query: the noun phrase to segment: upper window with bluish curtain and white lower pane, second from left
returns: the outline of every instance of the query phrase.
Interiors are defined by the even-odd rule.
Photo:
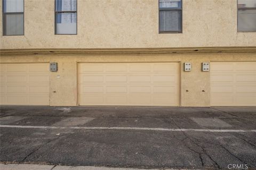
[[[76,8],[76,0],[55,0],[55,34],[77,33]]]

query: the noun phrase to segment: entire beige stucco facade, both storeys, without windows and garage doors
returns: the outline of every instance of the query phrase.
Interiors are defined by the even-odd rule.
[[[25,0],[24,36],[2,36],[1,12],[2,52],[15,50],[12,55],[2,53],[1,63],[57,62],[58,72],[50,72],[50,105],[76,106],[79,63],[179,62],[180,106],[209,107],[210,72],[202,72],[201,63],[255,62],[256,32],[237,32],[236,0],[183,0],[182,3],[182,33],[158,33],[157,0],[78,0],[77,35],[54,35],[54,0]],[[193,52],[198,48],[206,52],[173,52],[187,47]],[[210,47],[218,49],[207,51]],[[242,50],[221,54],[228,47]],[[47,55],[40,53],[45,48],[49,49]],[[60,48],[67,49],[69,54],[50,54]],[[143,48],[145,52],[131,55],[129,50],[133,48]],[[157,48],[172,50],[150,54]],[[19,53],[24,49],[33,52]],[[78,55],[79,49],[126,49],[128,53]],[[191,62],[191,72],[183,71],[184,62]]]

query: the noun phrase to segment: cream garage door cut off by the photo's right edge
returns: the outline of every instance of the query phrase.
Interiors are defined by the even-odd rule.
[[[211,63],[211,106],[256,106],[256,62]]]

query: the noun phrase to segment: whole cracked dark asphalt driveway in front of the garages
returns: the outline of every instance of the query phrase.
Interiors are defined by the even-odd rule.
[[[1,163],[256,168],[254,107],[1,107]],[[246,167],[244,166],[244,167]]]

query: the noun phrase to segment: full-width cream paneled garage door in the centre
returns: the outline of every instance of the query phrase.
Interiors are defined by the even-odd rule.
[[[179,106],[179,63],[80,63],[79,105]]]

